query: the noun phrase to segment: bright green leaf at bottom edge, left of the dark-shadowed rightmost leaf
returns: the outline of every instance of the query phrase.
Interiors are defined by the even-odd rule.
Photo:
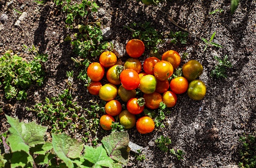
[[[97,148],[84,146],[84,155],[82,156],[84,159],[93,163],[92,167],[112,167],[112,163],[114,161],[106,154],[105,149],[102,146]]]

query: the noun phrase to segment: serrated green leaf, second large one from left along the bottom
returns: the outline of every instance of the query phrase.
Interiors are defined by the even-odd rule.
[[[67,134],[53,134],[52,146],[57,156],[66,163],[68,167],[74,167],[70,158],[79,158],[83,149],[83,143],[71,138]]]

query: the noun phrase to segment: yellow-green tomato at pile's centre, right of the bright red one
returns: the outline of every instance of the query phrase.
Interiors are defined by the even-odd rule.
[[[157,79],[153,75],[146,75],[141,78],[139,88],[143,93],[153,93],[156,90]]]

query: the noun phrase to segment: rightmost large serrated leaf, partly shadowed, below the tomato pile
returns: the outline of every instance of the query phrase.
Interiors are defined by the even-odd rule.
[[[109,136],[105,136],[101,140],[106,152],[109,156],[126,165],[129,158],[129,135],[125,132],[113,132]]]

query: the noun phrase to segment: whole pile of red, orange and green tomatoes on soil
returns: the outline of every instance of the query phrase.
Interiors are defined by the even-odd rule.
[[[116,65],[117,57],[112,52],[103,52],[99,62],[93,62],[87,69],[87,75],[92,82],[87,87],[93,95],[108,102],[105,105],[106,114],[101,116],[100,125],[104,130],[110,130],[113,116],[119,117],[119,123],[125,129],[136,125],[141,134],[152,132],[155,128],[151,117],[142,116],[136,122],[136,114],[140,114],[145,107],[157,109],[160,102],[166,107],[173,107],[177,102],[177,95],[187,91],[188,96],[194,100],[201,100],[206,93],[205,84],[198,78],[202,72],[202,65],[196,60],[190,60],[182,67],[184,77],[168,79],[173,75],[181,62],[180,55],[173,50],[162,55],[162,60],[150,57],[144,60],[143,65],[138,59],[144,53],[144,43],[141,40],[130,40],[126,44],[126,52],[131,57],[123,66]],[[124,67],[124,69],[122,69]],[[141,73],[143,67],[144,73]],[[101,85],[99,82],[104,76],[109,83]],[[191,81],[190,83],[188,81]],[[117,86],[119,86],[117,88]],[[170,88],[170,90],[169,90]],[[143,92],[142,98],[136,98],[136,89]],[[126,104],[127,110],[122,111],[121,103],[115,100],[117,94]]]

